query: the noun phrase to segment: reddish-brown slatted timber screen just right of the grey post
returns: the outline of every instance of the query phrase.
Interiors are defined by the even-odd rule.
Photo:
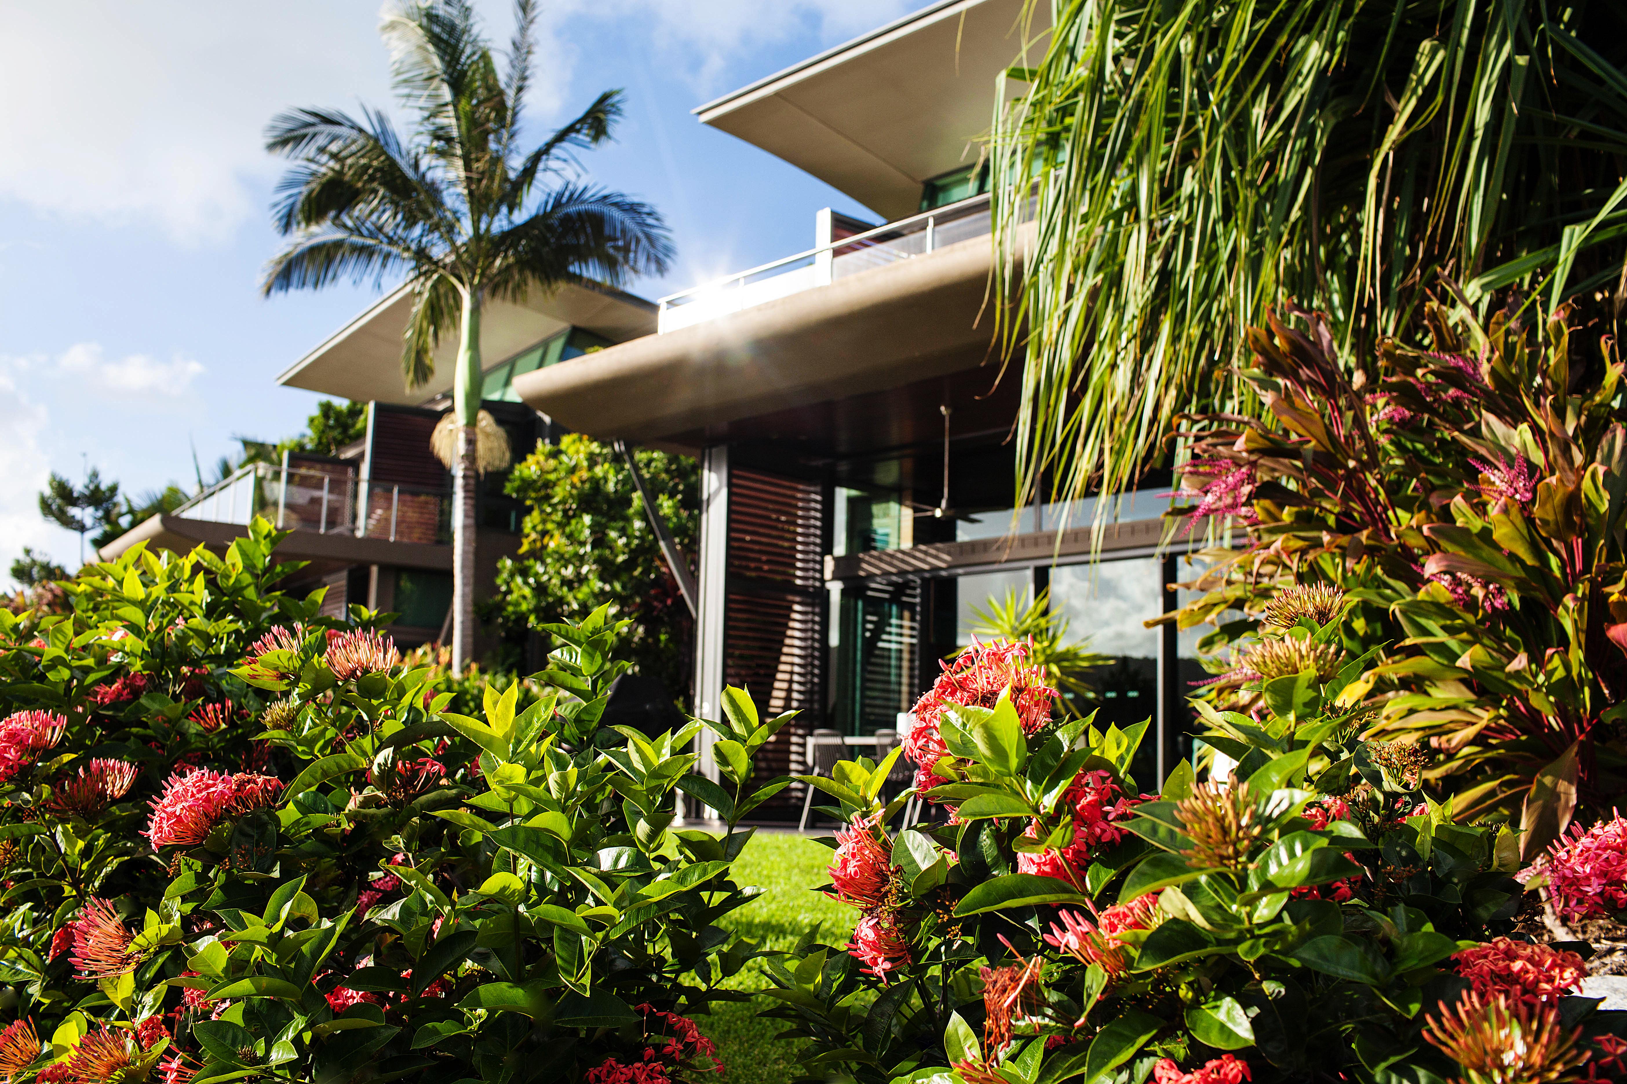
[[[750,691],[765,720],[800,712],[757,754],[765,778],[807,770],[800,738],[822,712],[823,505],[820,483],[731,471],[724,683]],[[791,801],[781,791],[763,811]]]

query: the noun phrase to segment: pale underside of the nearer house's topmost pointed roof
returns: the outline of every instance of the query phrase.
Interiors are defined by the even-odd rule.
[[[916,213],[921,185],[978,161],[994,80],[1019,63],[1023,0],[942,0],[695,111],[875,210]],[[1049,28],[1036,3],[1032,34]],[[1045,37],[1027,50],[1032,67]],[[1020,86],[1020,85],[1019,85]]]

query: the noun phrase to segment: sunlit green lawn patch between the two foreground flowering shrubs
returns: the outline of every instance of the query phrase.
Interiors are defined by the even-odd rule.
[[[765,949],[796,946],[815,923],[823,923],[822,941],[844,944],[857,912],[810,891],[830,884],[828,863],[830,848],[807,837],[757,834],[734,863],[732,876],[737,884],[768,891],[729,915],[724,925]],[[761,985],[758,969],[760,964],[750,964],[726,985],[732,990]],[[711,1016],[695,1021],[718,1043],[718,1058],[729,1068],[724,1077],[729,1084],[783,1084],[794,1074],[789,1056],[794,1045],[774,1040],[779,1022],[757,1019],[766,1001],[719,1003]]]

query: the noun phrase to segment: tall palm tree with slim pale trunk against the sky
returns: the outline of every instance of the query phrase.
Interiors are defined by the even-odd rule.
[[[646,203],[576,179],[574,151],[610,138],[620,91],[607,91],[527,154],[521,104],[532,62],[532,0],[514,5],[503,72],[467,0],[405,3],[384,20],[395,93],[413,115],[403,141],[363,107],[296,109],[272,120],[267,148],[294,159],[278,185],[277,229],[290,237],[265,271],[267,294],[338,280],[413,289],[402,372],[434,375],[433,351],[459,333],[452,668],[473,650],[475,475],[480,470],[480,315],[488,301],[524,299],[568,283],[620,284],[664,271],[672,245]],[[548,180],[552,184],[543,184]],[[444,424],[444,419],[443,419]]]

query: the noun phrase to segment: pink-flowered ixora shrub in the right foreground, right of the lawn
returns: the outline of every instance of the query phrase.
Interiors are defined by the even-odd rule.
[[[1461,822],[1407,749],[1362,739],[1372,655],[1339,658],[1344,608],[1284,598],[1246,679],[1261,712],[1202,705],[1238,762],[1224,780],[1183,762],[1141,793],[1144,725],[1054,720],[1012,644],[918,705],[909,752],[947,824],[892,824],[888,764],[809,778],[848,821],[830,892],[859,912],[846,944],[810,933],[768,962],[809,1076],[1620,1079],[1627,1014],[1573,996],[1591,949],[1510,936],[1531,899],[1516,834]],[[1624,830],[1554,852],[1526,887],[1617,907]]]

